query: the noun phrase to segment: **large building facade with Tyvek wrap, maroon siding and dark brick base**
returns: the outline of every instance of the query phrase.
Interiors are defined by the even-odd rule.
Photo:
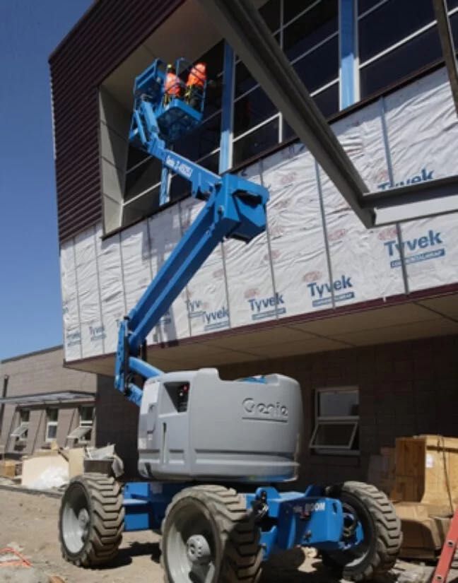
[[[258,5],[372,191],[456,173],[430,0]],[[216,249],[148,336],[149,360],[297,378],[304,479],[364,478],[396,436],[452,434],[446,401],[430,401],[458,380],[457,214],[365,230],[196,0],[99,0],[49,59],[66,365],[112,375],[119,319],[199,212],[177,176],[160,205],[160,166],[127,139],[134,78],[181,56],[206,61],[213,83],[175,150],[268,187],[268,228]],[[134,457],[136,416],[122,411]]]

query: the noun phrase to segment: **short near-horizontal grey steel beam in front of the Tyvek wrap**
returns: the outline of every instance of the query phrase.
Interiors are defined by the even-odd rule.
[[[458,176],[371,192],[364,197],[363,206],[373,209],[375,227],[454,213],[458,211]]]

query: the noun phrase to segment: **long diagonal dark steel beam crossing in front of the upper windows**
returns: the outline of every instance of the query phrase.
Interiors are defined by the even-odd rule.
[[[363,208],[368,187],[252,0],[199,1],[353,211],[370,227],[372,211]]]

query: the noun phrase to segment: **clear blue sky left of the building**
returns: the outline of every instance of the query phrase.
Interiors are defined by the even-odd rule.
[[[0,360],[62,341],[47,59],[92,0],[0,0]]]

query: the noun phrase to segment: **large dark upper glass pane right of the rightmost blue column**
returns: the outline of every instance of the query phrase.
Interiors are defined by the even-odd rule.
[[[389,0],[359,21],[359,54],[364,63],[434,20],[433,2]]]

